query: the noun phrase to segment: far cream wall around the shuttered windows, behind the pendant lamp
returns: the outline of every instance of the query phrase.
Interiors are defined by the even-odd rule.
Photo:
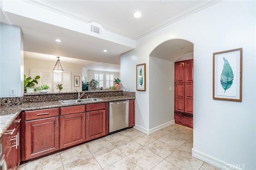
[[[30,69],[52,70],[55,63],[24,61],[24,74],[26,75],[26,77],[29,77]],[[71,72],[71,90],[75,91],[75,89],[76,89],[77,91],[82,91],[82,67],[74,66],[74,65],[66,65],[63,63],[61,63],[61,65],[62,65],[62,68],[64,69],[64,71]],[[75,75],[80,76],[80,86],[79,87],[74,87],[74,76]]]

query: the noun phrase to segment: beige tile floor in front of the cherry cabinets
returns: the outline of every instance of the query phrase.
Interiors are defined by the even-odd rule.
[[[191,156],[193,129],[170,125],[147,135],[134,128],[20,165],[20,170],[218,170]]]

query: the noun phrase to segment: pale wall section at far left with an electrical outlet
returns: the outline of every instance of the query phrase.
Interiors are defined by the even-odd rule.
[[[23,93],[23,33],[19,26],[1,23],[0,97]],[[16,90],[10,96],[10,89]]]

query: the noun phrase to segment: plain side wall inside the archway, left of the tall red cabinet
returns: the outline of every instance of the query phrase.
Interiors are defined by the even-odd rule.
[[[174,121],[174,62],[150,56],[148,83],[149,128],[172,123],[171,121]]]

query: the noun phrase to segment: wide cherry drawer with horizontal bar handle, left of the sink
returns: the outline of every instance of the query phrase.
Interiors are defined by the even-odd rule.
[[[41,119],[46,117],[54,117],[59,115],[59,108],[42,109],[36,111],[25,111],[25,121],[33,119]]]

